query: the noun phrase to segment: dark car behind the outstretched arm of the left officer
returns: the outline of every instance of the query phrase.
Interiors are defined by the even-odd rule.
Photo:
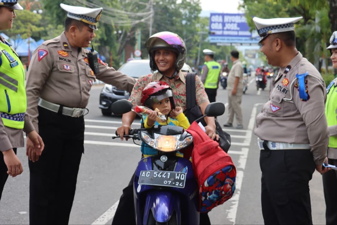
[[[124,63],[119,69],[123,74],[133,78],[138,78],[143,75],[151,74],[150,60],[130,60]],[[104,116],[112,114],[111,104],[120,99],[128,99],[130,93],[124,90],[117,89],[111,84],[105,84],[99,95],[99,108]]]

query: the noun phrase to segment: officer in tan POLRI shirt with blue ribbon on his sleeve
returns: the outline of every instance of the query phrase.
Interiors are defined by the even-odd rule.
[[[265,224],[312,224],[309,180],[327,159],[326,88],[296,49],[297,18],[253,18],[261,52],[279,66],[269,101],[256,117]]]

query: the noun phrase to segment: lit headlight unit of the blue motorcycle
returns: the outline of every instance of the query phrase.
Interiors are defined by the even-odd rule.
[[[186,137],[184,140],[179,140],[181,135],[161,135],[154,133],[154,139],[148,134],[141,132],[142,140],[151,147],[165,152],[177,151],[192,143],[192,136]]]

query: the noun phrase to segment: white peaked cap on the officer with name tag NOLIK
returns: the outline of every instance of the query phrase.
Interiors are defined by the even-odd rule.
[[[61,3],[61,8],[68,12],[67,17],[84,22],[88,27],[97,30],[97,22],[101,18],[103,8],[86,8]]]

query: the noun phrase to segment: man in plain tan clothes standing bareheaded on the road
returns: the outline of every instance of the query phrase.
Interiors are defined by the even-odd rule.
[[[227,77],[227,95],[228,95],[228,119],[223,126],[233,126],[234,115],[237,120],[237,129],[243,128],[241,101],[243,94],[243,67],[239,59],[239,52],[231,52],[233,66]]]

